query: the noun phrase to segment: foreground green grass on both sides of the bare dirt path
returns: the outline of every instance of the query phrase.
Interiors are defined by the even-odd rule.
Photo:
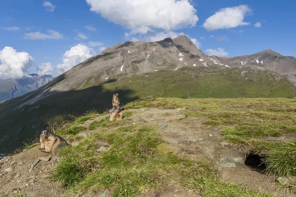
[[[295,100],[159,98],[125,105],[126,109],[143,107],[182,108],[179,111],[187,114],[187,118],[199,117],[204,120],[204,125],[222,127],[223,138],[232,145],[244,148],[246,153],[256,152],[264,156],[265,173],[296,176]],[[81,140],[77,136],[79,132],[97,131],[76,146],[61,150],[60,156],[64,159],[50,175],[51,180],[62,182],[70,195],[109,188],[114,197],[132,197],[175,184],[197,190],[203,197],[272,196],[261,190],[224,182],[201,155],[174,154],[173,149],[168,151],[169,154],[164,153],[167,151],[161,146],[163,140],[157,128],[132,124],[128,118],[132,115],[131,111],[125,111],[122,121],[109,123],[108,117],[102,117],[101,121],[90,122],[85,127],[85,121],[101,116],[88,114],[68,123],[66,128],[53,127],[69,140]],[[141,116],[141,113],[135,116]],[[267,140],[287,135],[290,136],[288,141]],[[98,153],[102,143],[109,144],[109,148]],[[281,186],[295,193],[295,185],[291,181]]]

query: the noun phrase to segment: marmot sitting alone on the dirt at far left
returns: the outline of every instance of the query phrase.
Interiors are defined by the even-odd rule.
[[[68,145],[65,139],[48,130],[41,131],[40,143],[40,149],[45,149],[41,152],[50,153],[52,156],[56,156],[60,148]]]

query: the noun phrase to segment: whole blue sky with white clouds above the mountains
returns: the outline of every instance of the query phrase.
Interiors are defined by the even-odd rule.
[[[295,7],[292,0],[1,0],[0,78],[57,76],[113,44],[182,33],[209,55],[271,48],[296,57]]]

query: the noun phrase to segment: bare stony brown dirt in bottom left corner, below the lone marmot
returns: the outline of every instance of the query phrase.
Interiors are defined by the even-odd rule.
[[[41,160],[34,168],[31,164],[38,157],[46,157],[39,146],[23,153],[0,160],[0,195],[25,194],[26,197],[62,197],[65,190],[58,183],[49,182],[45,176],[57,164]]]

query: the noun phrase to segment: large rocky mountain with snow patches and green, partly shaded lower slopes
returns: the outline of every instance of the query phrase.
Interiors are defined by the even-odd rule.
[[[148,96],[296,98],[296,87],[285,76],[293,77],[295,66],[296,58],[271,50],[239,57],[209,57],[185,35],[158,42],[119,43],[48,84],[43,81],[44,86],[31,93],[0,102],[0,153],[37,137],[48,121],[93,109],[103,112],[111,107],[114,93],[119,94],[122,105]],[[37,87],[33,81],[29,84]],[[9,87],[9,96],[18,94],[15,86]]]

